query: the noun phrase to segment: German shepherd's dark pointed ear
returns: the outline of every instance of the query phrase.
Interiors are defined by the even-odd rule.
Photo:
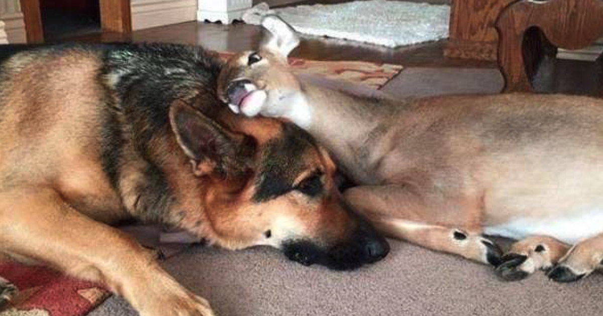
[[[191,158],[197,176],[226,176],[230,170],[224,157],[237,154],[236,135],[204,116],[183,101],[175,101],[169,108],[169,122],[178,144]]]

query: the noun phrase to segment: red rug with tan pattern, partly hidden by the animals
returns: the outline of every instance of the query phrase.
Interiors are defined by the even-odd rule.
[[[227,58],[232,53],[219,53]],[[362,61],[311,61],[289,60],[296,73],[324,76],[329,79],[353,82],[371,88],[381,88],[402,70],[402,66],[365,63]],[[145,246],[148,243],[143,232],[131,232]],[[148,237],[148,234],[147,234]],[[173,240],[172,240],[173,242]],[[189,240],[177,244],[159,245],[172,256],[186,247]],[[165,247],[164,247],[165,246]],[[46,267],[32,267],[0,261],[0,276],[14,283],[19,294],[13,302],[0,311],[0,316],[83,316],[110,296],[109,291],[90,282],[83,282]]]

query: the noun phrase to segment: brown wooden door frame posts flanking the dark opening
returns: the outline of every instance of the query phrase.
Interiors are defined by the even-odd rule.
[[[40,0],[20,0],[28,43],[44,41]],[[132,31],[130,0],[99,0],[101,29],[128,33]]]

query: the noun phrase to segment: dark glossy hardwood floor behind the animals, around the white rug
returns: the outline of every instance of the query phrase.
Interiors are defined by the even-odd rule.
[[[333,0],[341,2],[341,0]],[[186,22],[158,28],[134,31],[131,34],[101,33],[68,39],[77,42],[162,42],[200,45],[214,51],[244,51],[255,49],[261,37],[261,28],[242,23]],[[361,60],[401,64],[405,67],[497,67],[490,61],[446,58],[446,41],[423,43],[391,49],[374,45],[324,38],[308,38],[292,52],[292,57],[310,60]],[[599,70],[599,72],[597,72]],[[603,65],[554,60],[538,70],[532,83],[538,92],[571,94],[601,93]]]

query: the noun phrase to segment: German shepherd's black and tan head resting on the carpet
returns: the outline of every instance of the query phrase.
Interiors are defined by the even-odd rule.
[[[387,255],[387,241],[346,205],[333,161],[309,134],[225,113],[230,119],[219,124],[182,102],[170,110],[177,142],[204,184],[204,237],[228,249],[273,246],[301,264],[339,270]]]

